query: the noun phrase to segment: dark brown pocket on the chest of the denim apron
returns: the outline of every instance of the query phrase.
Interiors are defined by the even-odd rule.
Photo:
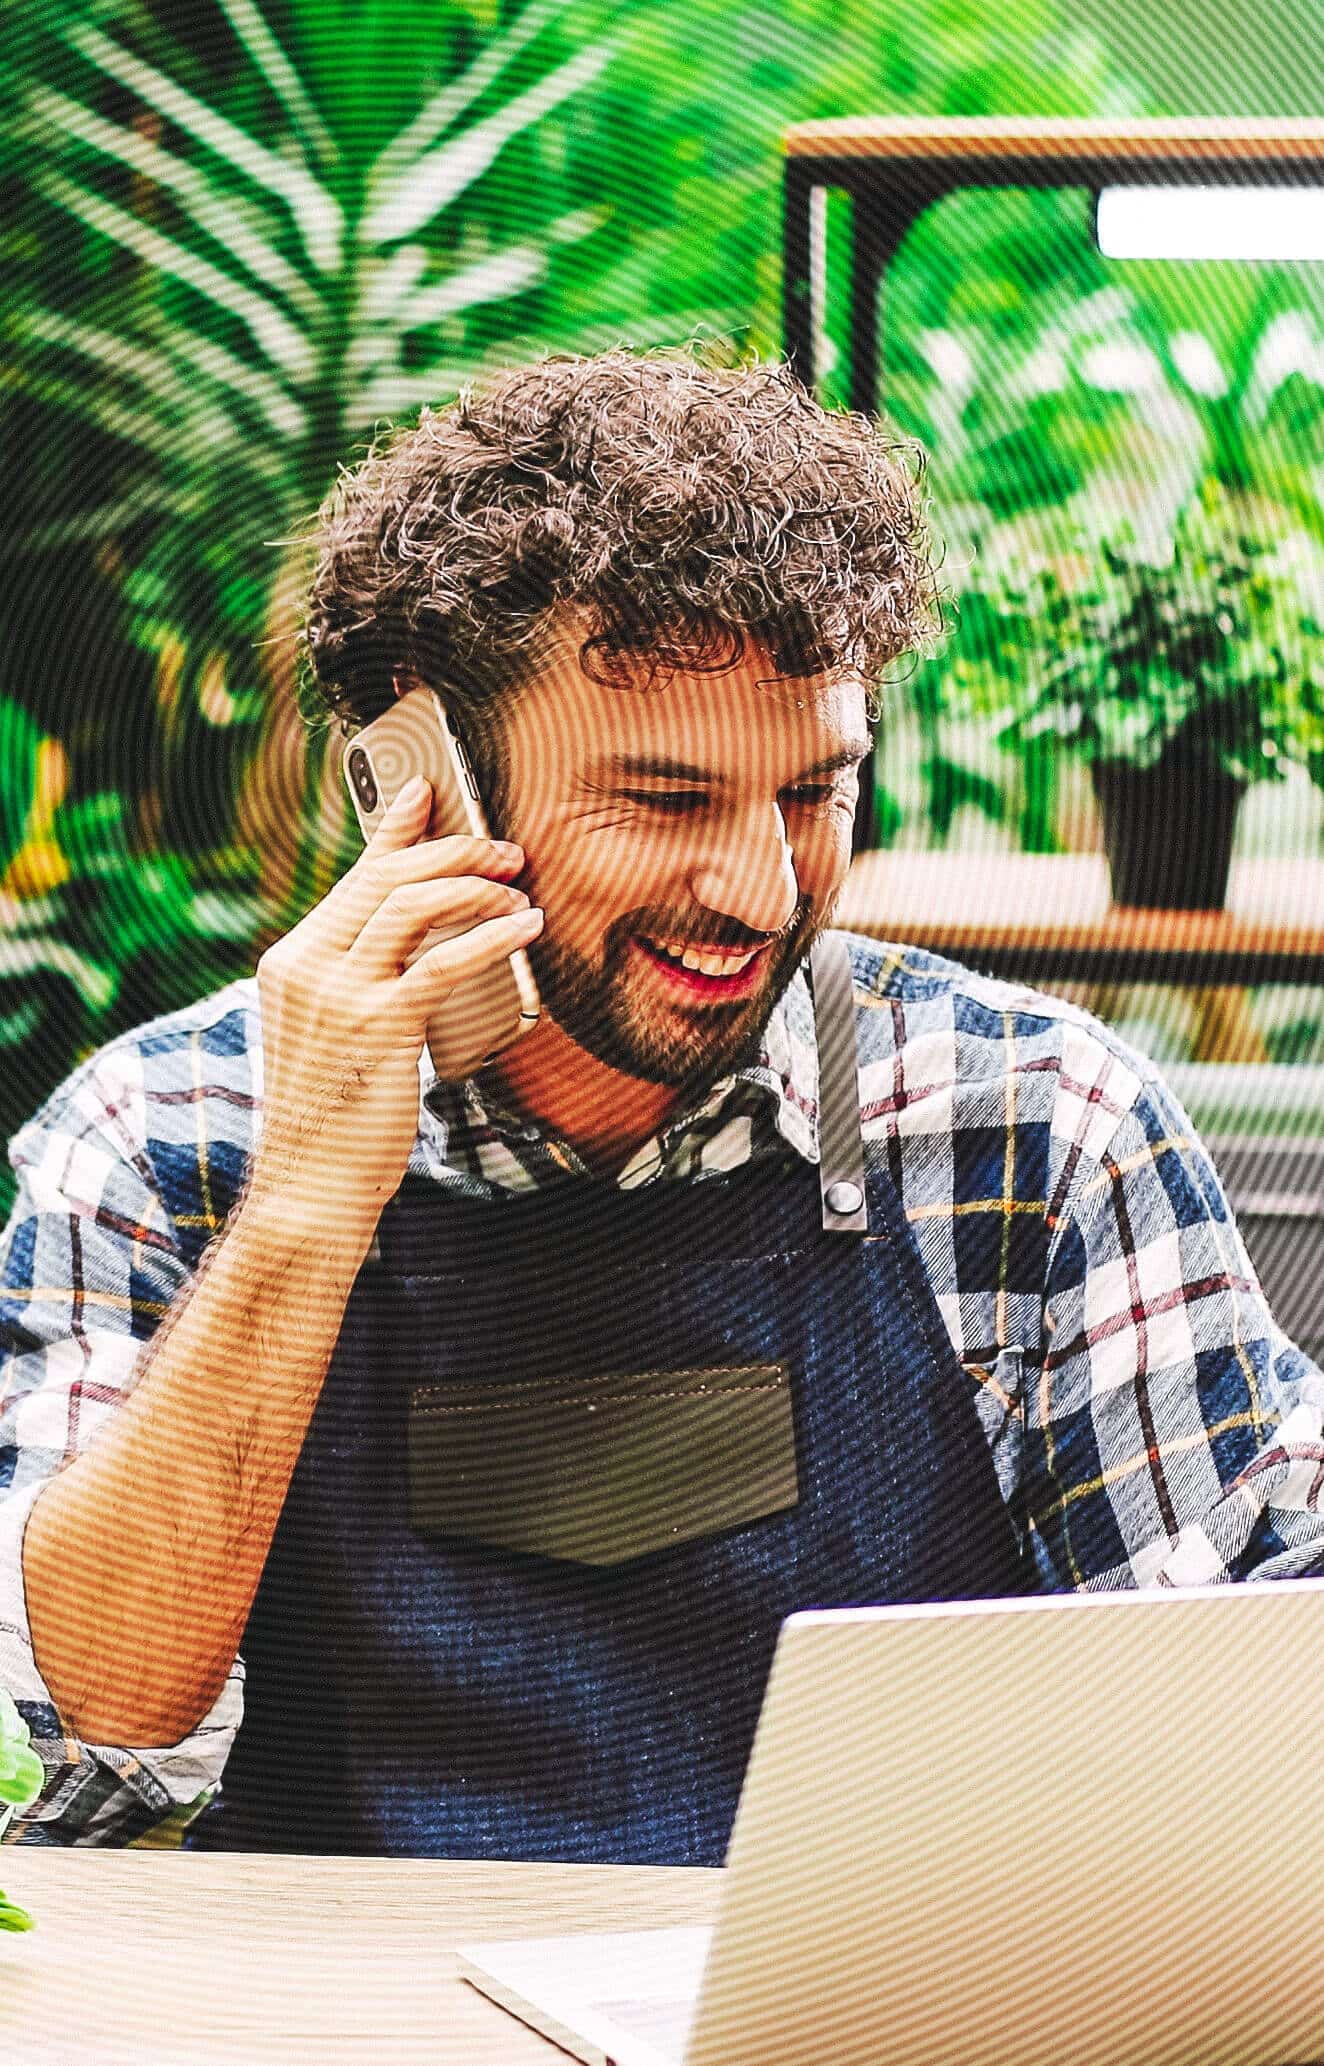
[[[647,1370],[409,1395],[409,1523],[622,1564],[795,1506],[783,1364]]]

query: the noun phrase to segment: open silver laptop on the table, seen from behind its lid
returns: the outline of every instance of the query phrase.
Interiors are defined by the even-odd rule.
[[[1324,2060],[1324,1580],[793,1614],[706,1930],[469,1944],[585,2066]]]

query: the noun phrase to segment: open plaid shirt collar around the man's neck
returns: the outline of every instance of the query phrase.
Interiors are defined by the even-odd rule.
[[[758,1054],[744,1068],[721,1076],[702,1103],[675,1114],[661,1136],[644,1142],[638,1155],[630,1157],[622,1178],[634,1171],[649,1149],[657,1153],[661,1142],[665,1155],[667,1145],[680,1140],[682,1134],[711,1124],[727,1105],[739,1107],[742,1103],[746,1109],[766,1112],[781,1138],[803,1161],[818,1161],[818,1047],[803,967],[795,971],[773,1008]],[[432,1056],[423,1047],[419,1054],[419,1140],[432,1165],[446,1163],[456,1130],[469,1136],[496,1134],[512,1145],[554,1142],[545,1128],[504,1107],[492,1091],[479,1091],[473,1076],[465,1083],[440,1083]]]

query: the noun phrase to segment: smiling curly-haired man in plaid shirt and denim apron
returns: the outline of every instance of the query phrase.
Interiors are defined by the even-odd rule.
[[[442,688],[510,845],[401,795],[12,1142],[29,1841],[713,1864],[791,1607],[1324,1562],[1324,1382],[1155,1070],[828,928],[929,630],[911,475],[777,368],[551,359],[341,483],[320,694]],[[516,946],[541,1025],[436,1083]]]

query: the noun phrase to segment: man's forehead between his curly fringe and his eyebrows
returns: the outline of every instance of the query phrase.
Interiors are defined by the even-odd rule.
[[[580,766],[616,756],[684,758],[713,766],[762,760],[814,764],[870,744],[859,676],[783,676],[766,651],[750,645],[733,663],[688,671],[618,663],[589,665],[578,643],[558,640],[539,680],[521,702],[533,705],[545,746]]]

